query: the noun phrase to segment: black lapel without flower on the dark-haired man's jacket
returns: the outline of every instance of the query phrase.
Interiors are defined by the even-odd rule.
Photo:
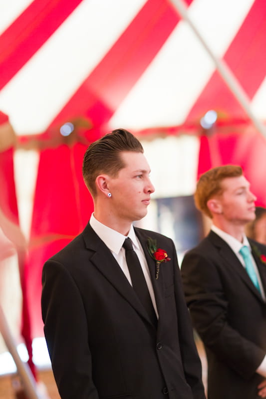
[[[99,238],[88,223],[83,231],[83,237],[87,249],[92,251],[90,257],[91,263],[104,275],[104,277],[113,285],[113,287],[122,295],[122,297],[150,324],[150,321],[144,307],[140,303],[136,293],[127,280],[121,267],[113,257],[109,248]],[[152,324],[153,325],[153,324]]]

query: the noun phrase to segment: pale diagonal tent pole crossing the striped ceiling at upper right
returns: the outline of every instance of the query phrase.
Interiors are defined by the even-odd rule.
[[[184,0],[170,0],[170,2],[175,6],[177,12],[182,16],[182,18],[187,21],[191,29],[194,31],[212,60],[214,61],[220,75],[226,82],[227,86],[231,90],[231,92],[234,94],[238,102],[241,104],[241,106],[244,108],[250,119],[252,120],[254,126],[256,129],[263,134],[263,136],[266,137],[266,127],[262,123],[260,119],[254,115],[251,105],[250,105],[250,99],[247,96],[246,92],[244,91],[243,87],[227,65],[227,63],[218,57],[215,56],[209,45],[206,43],[204,40],[203,36],[199,32],[198,28],[195,26],[195,24],[192,22],[190,19],[188,12],[187,12],[187,5],[185,4]]]

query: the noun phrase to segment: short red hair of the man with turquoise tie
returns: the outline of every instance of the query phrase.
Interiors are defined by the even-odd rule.
[[[216,195],[223,193],[222,181],[226,178],[234,178],[243,175],[243,170],[237,165],[218,166],[217,168],[210,169],[200,176],[197,183],[194,200],[196,207],[205,213],[207,216],[212,217],[212,214],[207,206],[208,200]]]

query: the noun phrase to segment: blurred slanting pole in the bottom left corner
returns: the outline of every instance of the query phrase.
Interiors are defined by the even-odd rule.
[[[38,399],[39,396],[35,391],[34,378],[32,376],[32,373],[28,365],[21,361],[17,353],[16,346],[13,337],[10,333],[7,322],[5,320],[1,305],[0,305],[0,333],[2,334],[3,340],[5,342],[8,351],[10,352],[12,358],[14,359],[18,374],[20,375],[28,399]]]

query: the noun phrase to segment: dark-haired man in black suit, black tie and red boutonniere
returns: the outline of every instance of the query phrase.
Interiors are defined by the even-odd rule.
[[[42,274],[44,333],[62,399],[205,398],[174,243],[132,225],[154,192],[149,173],[140,142],[124,129],[85,153],[94,213]]]

